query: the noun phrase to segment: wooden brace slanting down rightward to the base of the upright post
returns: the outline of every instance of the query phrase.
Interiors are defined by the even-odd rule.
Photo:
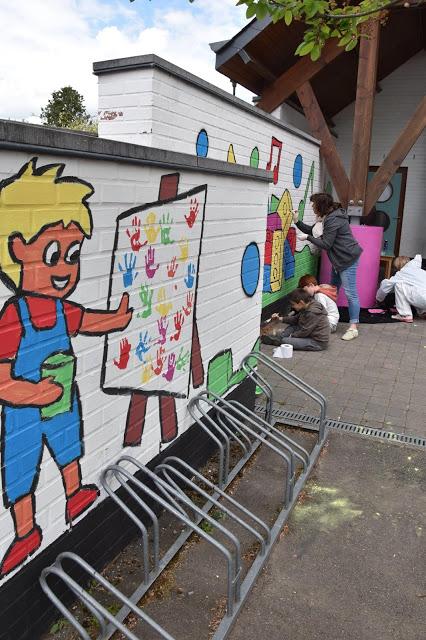
[[[340,202],[343,206],[346,206],[349,193],[348,176],[310,82],[305,82],[303,86],[297,89],[297,96],[309,122],[312,135],[321,140],[321,153],[328,173]]]

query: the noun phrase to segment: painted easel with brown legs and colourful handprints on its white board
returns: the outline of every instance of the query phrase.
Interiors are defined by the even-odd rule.
[[[204,382],[196,305],[207,185],[178,195],[176,178],[163,176],[157,202],[117,219],[108,304],[127,290],[135,313],[123,336],[106,338],[101,383],[131,396],[124,446],[141,444],[149,396],[159,398],[162,442],[173,440],[175,398]]]

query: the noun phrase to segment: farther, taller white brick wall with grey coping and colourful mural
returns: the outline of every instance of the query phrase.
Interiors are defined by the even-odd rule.
[[[309,196],[322,184],[316,140],[156,56],[96,63],[95,73],[103,137],[274,171],[265,211],[264,307],[316,272],[314,248],[297,240],[291,226],[293,209],[314,222]],[[105,118],[107,109],[120,115]]]

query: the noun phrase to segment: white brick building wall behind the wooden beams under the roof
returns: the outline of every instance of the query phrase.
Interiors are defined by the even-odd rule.
[[[399,133],[414,114],[425,93],[426,52],[422,51],[380,81],[376,93],[371,146],[371,166],[380,166]],[[346,170],[350,171],[354,104],[334,117],[338,138],[336,145]],[[426,254],[424,233],[426,184],[426,132],[417,140],[403,161],[407,167],[404,217],[400,254]]]

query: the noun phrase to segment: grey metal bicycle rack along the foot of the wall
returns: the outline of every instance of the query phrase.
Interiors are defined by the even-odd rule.
[[[271,424],[273,392],[271,385],[265,380],[264,375],[259,372],[259,364],[296,386],[320,405],[319,437],[311,452],[308,452],[303,446]],[[123,625],[123,621],[130,612],[135,613],[141,620],[149,624],[159,633],[160,637],[173,640],[172,636],[139,609],[137,603],[194,532],[221,553],[226,561],[226,614],[219,624],[213,640],[224,640],[229,633],[238,611],[264,566],[318,458],[326,436],[327,403],[321,393],[262,353],[250,353],[243,359],[241,366],[266,395],[265,417],[251,411],[238,401],[227,400],[209,390],[201,392],[192,398],[188,404],[188,411],[191,417],[207,433],[218,449],[219,465],[216,483],[207,479],[188,463],[175,456],[165,458],[152,471],[136,459],[124,455],[117,460],[116,464],[104,469],[101,474],[101,484],[106,493],[132,520],[140,532],[143,580],[136,591],[127,598],[115,587],[112,587],[105,578],[100,576],[84,560],[71,553],[61,554],[51,567],[43,571],[40,578],[43,590],[63,615],[74,625],[83,640],[89,640],[87,632],[47,585],[46,578],[49,574],[55,574],[62,578],[71,591],[97,618],[101,628],[101,635],[98,636],[97,640],[109,640],[117,630],[124,633],[126,638],[137,640],[136,636]],[[233,451],[237,448],[240,450],[241,455],[231,468],[232,445],[234,445]],[[225,489],[261,445],[278,455],[285,467],[282,508],[271,526],[267,525],[233,496],[225,492]],[[123,465],[130,465],[134,473]],[[297,475],[298,472],[300,472],[299,475]],[[127,494],[129,499],[126,502],[112,489],[112,480],[115,480]],[[148,482],[149,486],[146,482]],[[191,492],[191,495],[195,493],[198,499],[205,500],[204,505],[200,506],[198,500],[194,502],[186,491]],[[184,525],[183,531],[162,557],[160,557],[159,516],[156,515],[156,512],[147,502],[151,505],[155,504],[158,511],[165,510]],[[251,538],[254,538],[259,545],[259,551],[244,578],[242,577],[243,565],[240,540],[225,524],[218,522],[209,515],[209,511],[213,507],[225,513],[229,522],[250,534]],[[152,525],[152,542],[150,542],[146,523],[138,515],[139,510],[143,513],[145,520],[148,520]],[[205,530],[206,528],[201,526],[203,521],[208,523],[213,530],[216,530],[220,540],[213,537],[211,533]],[[115,616],[100,605],[64,571],[62,562],[65,558],[74,560],[87,573],[99,580],[123,604]]]

